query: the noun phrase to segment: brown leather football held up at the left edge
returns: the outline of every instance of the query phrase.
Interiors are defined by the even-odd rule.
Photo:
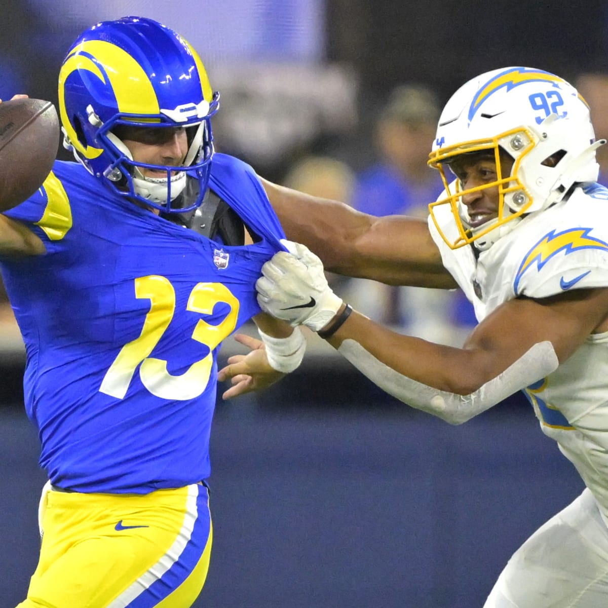
[[[0,212],[40,188],[59,143],[55,106],[41,99],[0,103]]]

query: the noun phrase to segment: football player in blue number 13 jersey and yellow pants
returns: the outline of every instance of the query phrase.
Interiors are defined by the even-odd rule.
[[[269,379],[302,359],[300,331],[258,306],[255,280],[284,234],[252,168],[214,154],[217,109],[176,32],[98,23],[59,78],[77,162],[55,162],[0,215],[26,410],[49,475],[21,608],[190,606],[212,543],[219,345],[255,317]]]

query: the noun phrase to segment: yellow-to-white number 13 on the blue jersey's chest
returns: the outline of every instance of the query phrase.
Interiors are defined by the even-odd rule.
[[[186,309],[195,313],[212,314],[218,302],[230,306],[230,311],[218,325],[199,319],[192,339],[209,347],[207,356],[181,375],[167,371],[167,361],[150,357],[150,353],[167,330],[175,311],[175,290],[165,277],[150,275],[135,280],[135,297],[150,300],[150,311],[143,322],[139,337],[125,344],[103,378],[100,392],[123,399],[139,367],[142,384],[162,399],[193,399],[205,390],[213,365],[213,349],[237,326],[239,303],[222,283],[198,283],[188,297]]]

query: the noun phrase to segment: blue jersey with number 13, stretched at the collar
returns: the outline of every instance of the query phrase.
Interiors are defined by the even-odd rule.
[[[209,476],[216,353],[260,312],[255,281],[284,237],[249,165],[217,154],[210,186],[260,242],[215,243],[73,162],[56,162],[7,212],[47,248],[1,269],[26,344],[26,410],[54,485],[147,493]]]

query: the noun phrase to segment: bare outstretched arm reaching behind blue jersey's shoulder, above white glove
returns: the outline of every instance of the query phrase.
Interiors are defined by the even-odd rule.
[[[348,205],[261,179],[287,238],[305,244],[332,272],[389,285],[452,289],[426,220],[376,218]]]

